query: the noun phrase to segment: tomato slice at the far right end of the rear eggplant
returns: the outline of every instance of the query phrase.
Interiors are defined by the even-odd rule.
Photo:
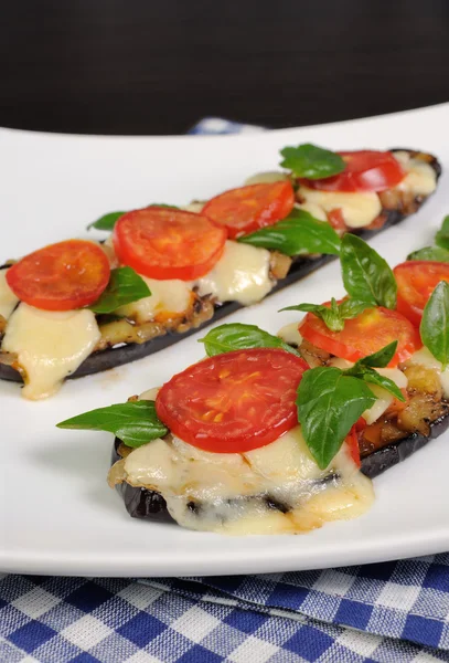
[[[343,172],[320,180],[301,179],[301,183],[321,191],[385,191],[396,187],[405,177],[392,152],[362,149],[339,155],[346,162]]]

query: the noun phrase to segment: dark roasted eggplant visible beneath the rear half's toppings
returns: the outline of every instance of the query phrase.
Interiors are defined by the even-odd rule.
[[[402,151],[408,152],[411,158],[419,159],[426,164],[428,164],[435,171],[437,181],[441,175],[441,166],[439,161],[432,156],[424,152],[419,152],[410,149],[400,149],[395,148],[392,151]],[[394,194],[392,193],[394,192]],[[404,196],[396,192],[396,190],[385,191],[379,194],[381,202],[383,203],[383,210],[381,217],[385,219],[381,228],[375,228],[375,223],[373,228],[365,228],[361,230],[351,230],[359,236],[364,240],[370,240],[381,231],[396,225],[403,219],[407,218],[409,214],[415,213],[426,201],[426,196]],[[389,196],[388,196],[389,194]],[[276,257],[276,256],[275,256]],[[282,278],[278,278],[275,287],[268,293],[269,295],[276,293],[297,281],[300,281],[311,272],[314,272],[322,265],[335,260],[334,255],[317,255],[317,256],[298,256],[293,259],[291,262],[291,266],[287,273],[287,275]],[[275,269],[271,267],[272,276],[276,277],[285,273],[285,266],[279,266],[279,260],[275,260]],[[4,265],[9,266],[9,265]],[[280,270],[280,271],[279,271]],[[268,295],[267,295],[268,296]],[[137,359],[141,359],[147,357],[148,355],[152,355],[159,350],[162,350],[184,337],[191,336],[195,334],[199,329],[202,329],[211,324],[215,324],[217,320],[221,320],[225,316],[234,313],[243,308],[243,306],[236,302],[227,302],[225,304],[215,304],[214,311],[211,312],[211,316],[207,319],[201,319],[201,316],[196,320],[192,320],[190,324],[184,325],[183,327],[175,329],[165,329],[163,327],[160,328],[159,334],[156,335],[148,341],[145,343],[128,343],[120,344],[114,347],[107,347],[106,349],[101,349],[93,352],[81,366],[79,368],[68,376],[68,379],[73,378],[82,378],[84,376],[88,376],[92,373],[100,372],[107,370],[109,368],[115,368],[117,366],[121,366],[124,364],[128,364],[130,361],[136,361]],[[182,329],[182,330],[181,330]],[[4,365],[0,359],[0,379],[3,380],[12,380],[15,382],[21,382],[22,378],[20,373],[14,370],[12,366]]]

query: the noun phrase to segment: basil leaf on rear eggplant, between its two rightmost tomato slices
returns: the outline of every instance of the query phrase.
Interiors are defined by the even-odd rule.
[[[286,255],[330,253],[338,255],[340,238],[327,221],[318,221],[304,210],[293,209],[274,225],[238,238],[238,242],[276,249]]]

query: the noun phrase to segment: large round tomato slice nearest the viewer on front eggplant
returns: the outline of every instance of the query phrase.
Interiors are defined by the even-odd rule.
[[[265,446],[298,423],[303,359],[277,348],[210,357],[174,376],[156,411],[174,435],[215,453]]]

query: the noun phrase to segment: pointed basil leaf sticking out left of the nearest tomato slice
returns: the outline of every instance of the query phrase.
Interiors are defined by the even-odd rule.
[[[169,432],[156,413],[154,401],[146,400],[98,408],[56,425],[61,429],[107,431],[114,433],[127,446],[141,446],[156,438],[163,438]]]

